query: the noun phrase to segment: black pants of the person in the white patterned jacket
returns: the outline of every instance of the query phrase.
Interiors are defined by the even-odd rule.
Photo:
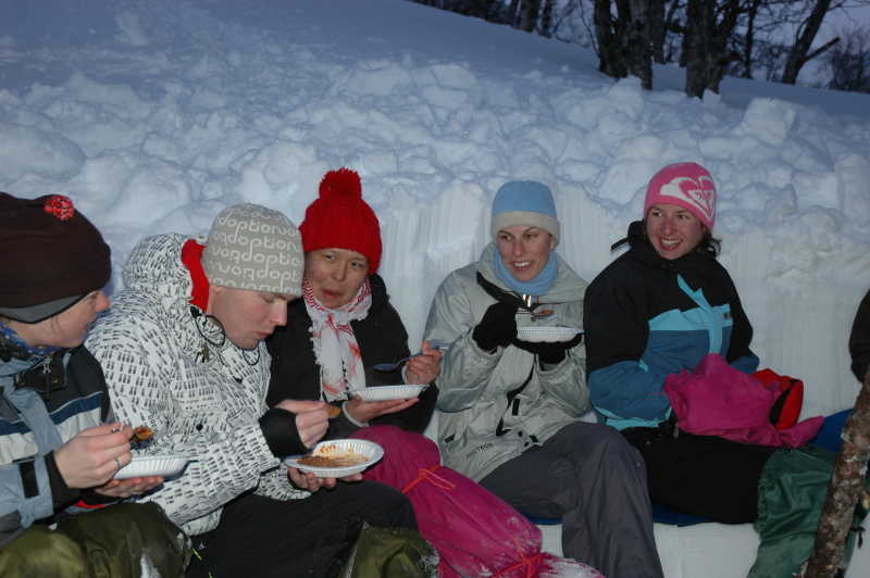
[[[376,481],[286,502],[244,494],[224,507],[217,528],[194,537],[199,558],[186,577],[336,576],[363,522],[417,529],[411,502]]]

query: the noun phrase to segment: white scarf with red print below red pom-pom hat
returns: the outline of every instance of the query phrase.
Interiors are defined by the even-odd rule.
[[[314,297],[308,279],[302,280],[302,299],[311,317],[311,340],[320,365],[321,391],[326,401],[344,400],[345,390],[365,387],[360,347],[350,322],[364,319],[372,305],[369,279],[357,296],[340,309],[326,309]]]

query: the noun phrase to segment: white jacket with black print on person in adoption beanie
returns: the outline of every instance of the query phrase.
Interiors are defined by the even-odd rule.
[[[197,322],[207,332],[210,322],[189,303],[192,281],[181,257],[191,238],[204,242],[169,234],[134,249],[123,268],[127,289],[112,297],[87,344],[117,419],[154,430],[145,452],[191,456],[179,477],[144,500],[195,536],[214,529],[223,505],[248,490],[278,500],[310,493],[290,486],[258,423],[266,411],[265,345],[243,352],[225,339],[203,355]]]

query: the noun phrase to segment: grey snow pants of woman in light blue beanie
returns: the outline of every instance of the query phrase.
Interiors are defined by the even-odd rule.
[[[561,517],[567,557],[608,578],[663,576],[646,467],[614,428],[570,424],[480,483],[527,516]]]

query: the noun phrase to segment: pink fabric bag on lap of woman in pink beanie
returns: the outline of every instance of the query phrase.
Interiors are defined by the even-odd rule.
[[[735,369],[718,353],[705,355],[692,373],[669,375],[664,392],[680,429],[741,443],[799,448],[816,437],[824,420],[810,417],[776,429],[770,411],[782,391]]]

